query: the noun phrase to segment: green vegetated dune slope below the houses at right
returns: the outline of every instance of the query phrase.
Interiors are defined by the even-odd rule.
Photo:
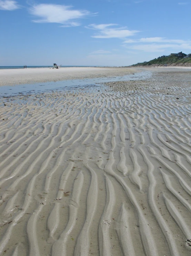
[[[185,66],[188,64],[188,66],[191,65],[191,58],[178,58],[176,56],[162,56],[158,59],[150,60],[148,62],[143,63],[137,63],[134,65],[131,65],[131,67],[137,67],[137,66],[163,66],[164,64],[167,64],[168,66]]]

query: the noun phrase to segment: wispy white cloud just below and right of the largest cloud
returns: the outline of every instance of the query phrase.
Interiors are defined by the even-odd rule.
[[[94,29],[98,31],[97,35],[93,35],[94,38],[125,38],[133,36],[138,33],[138,30],[128,30],[126,27],[113,28],[118,24],[91,24],[86,28]]]

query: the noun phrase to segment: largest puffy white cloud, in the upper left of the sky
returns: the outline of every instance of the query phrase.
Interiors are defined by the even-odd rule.
[[[30,13],[40,19],[36,23],[60,23],[63,27],[79,26],[76,20],[93,15],[87,10],[74,10],[72,6],[40,4],[30,8]]]

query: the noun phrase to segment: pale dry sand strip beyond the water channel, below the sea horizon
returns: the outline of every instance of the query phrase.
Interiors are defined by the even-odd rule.
[[[97,77],[123,76],[136,72],[132,68],[31,68],[31,69],[0,69],[0,86],[20,85],[62,81],[68,79],[84,79]]]

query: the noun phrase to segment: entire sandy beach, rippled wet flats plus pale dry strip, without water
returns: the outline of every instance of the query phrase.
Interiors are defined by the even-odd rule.
[[[142,70],[0,70],[0,85]],[[191,255],[191,72],[150,71],[1,97],[0,255]]]

